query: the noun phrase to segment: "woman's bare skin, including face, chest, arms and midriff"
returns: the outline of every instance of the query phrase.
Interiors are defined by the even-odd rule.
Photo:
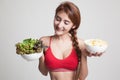
[[[70,55],[73,49],[69,31],[74,28],[75,26],[69,19],[68,15],[63,11],[60,11],[56,14],[54,19],[55,34],[52,36],[51,45],[49,45],[50,36],[41,37],[40,40],[43,41],[44,46],[51,47],[52,54],[56,59],[63,60]],[[87,56],[89,53],[86,51],[84,41],[82,39],[78,39],[78,46],[81,49],[81,61],[78,66],[78,75],[76,74],[76,71],[55,72],[48,70],[44,63],[44,55],[39,60],[38,68],[40,72],[43,75],[47,75],[49,73],[51,80],[85,80],[88,74]],[[44,51],[47,49],[48,48],[46,47]],[[92,56],[92,54],[89,54],[89,56]],[[94,56],[98,56],[98,54]]]

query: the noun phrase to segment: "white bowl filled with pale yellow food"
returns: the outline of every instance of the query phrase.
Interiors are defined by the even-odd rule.
[[[84,42],[87,51],[90,53],[105,52],[108,47],[107,43],[101,39],[88,39]]]

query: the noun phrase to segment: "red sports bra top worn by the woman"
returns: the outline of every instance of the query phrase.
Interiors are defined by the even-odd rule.
[[[75,71],[78,66],[78,57],[73,48],[68,57],[65,59],[58,59],[53,55],[49,45],[48,49],[45,51],[45,64],[50,71]]]

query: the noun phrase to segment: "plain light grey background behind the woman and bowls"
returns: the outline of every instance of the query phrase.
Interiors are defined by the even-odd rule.
[[[52,35],[54,11],[64,0],[0,0],[0,80],[50,80],[38,70],[38,60],[28,62],[15,53],[15,43],[25,38]],[[81,11],[78,37],[106,40],[101,57],[89,57],[87,80],[120,80],[120,0],[70,0]]]

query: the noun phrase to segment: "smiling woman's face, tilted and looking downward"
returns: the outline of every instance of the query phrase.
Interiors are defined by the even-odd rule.
[[[56,14],[54,18],[55,35],[67,34],[72,27],[73,23],[65,12],[60,11]]]

